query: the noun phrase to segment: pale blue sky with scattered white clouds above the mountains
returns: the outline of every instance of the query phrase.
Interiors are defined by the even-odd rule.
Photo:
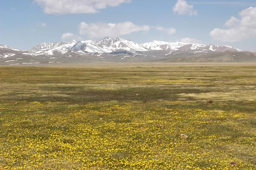
[[[256,51],[255,0],[0,0],[0,44],[125,38]]]

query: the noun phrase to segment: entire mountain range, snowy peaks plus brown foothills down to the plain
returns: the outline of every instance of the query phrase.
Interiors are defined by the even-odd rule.
[[[256,54],[227,45],[163,41],[138,44],[110,37],[99,41],[44,42],[30,50],[0,45],[2,65],[97,61],[256,62]]]

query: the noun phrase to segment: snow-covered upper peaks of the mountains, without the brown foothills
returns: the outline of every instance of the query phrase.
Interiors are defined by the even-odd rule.
[[[105,37],[99,41],[83,40],[76,42],[53,42],[42,43],[36,45],[28,52],[32,55],[55,55],[65,54],[68,51],[77,51],[85,54],[93,53],[111,53],[115,51],[167,51],[171,54],[174,51],[190,51],[193,53],[211,53],[211,52],[224,52],[224,51],[241,51],[237,48],[230,46],[219,45],[203,45],[197,43],[184,43],[184,42],[163,42],[152,41],[144,44],[138,44],[136,42],[122,39],[122,38],[109,38]]]

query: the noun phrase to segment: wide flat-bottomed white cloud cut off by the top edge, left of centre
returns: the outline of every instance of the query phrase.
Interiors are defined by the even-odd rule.
[[[130,3],[131,0],[34,0],[47,14],[97,13],[101,9]]]

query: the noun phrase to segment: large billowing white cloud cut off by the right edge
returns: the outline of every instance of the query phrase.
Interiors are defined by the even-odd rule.
[[[215,28],[210,32],[211,37],[222,42],[239,42],[256,37],[256,8],[244,9],[239,15],[241,20],[231,17],[225,24],[229,28]]]

